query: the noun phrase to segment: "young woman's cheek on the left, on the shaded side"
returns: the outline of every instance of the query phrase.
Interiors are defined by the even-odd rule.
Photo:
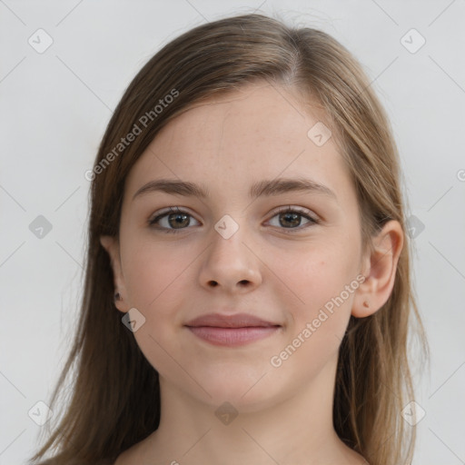
[[[198,383],[174,361],[182,360],[176,355],[175,342],[179,343],[181,334],[176,324],[181,318],[178,311],[183,308],[183,296],[189,283],[192,284],[193,274],[188,265],[193,258],[180,248],[142,240],[134,248],[128,244],[125,257],[128,303],[144,317],[143,325],[134,332],[140,350],[166,379],[182,382],[191,391],[199,390]]]

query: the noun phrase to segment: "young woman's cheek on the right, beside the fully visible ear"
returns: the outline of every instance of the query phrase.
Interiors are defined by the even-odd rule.
[[[283,299],[280,293],[275,296],[292,316],[285,346],[292,347],[282,353],[283,359],[292,354],[290,364],[303,363],[309,369],[314,365],[316,369],[338,350],[360,284],[356,279],[360,252],[357,243],[348,236],[346,240],[329,238],[314,243],[305,253],[296,253],[292,265],[286,268],[276,257],[274,266],[281,266],[282,281],[292,291],[286,292],[292,300]]]

